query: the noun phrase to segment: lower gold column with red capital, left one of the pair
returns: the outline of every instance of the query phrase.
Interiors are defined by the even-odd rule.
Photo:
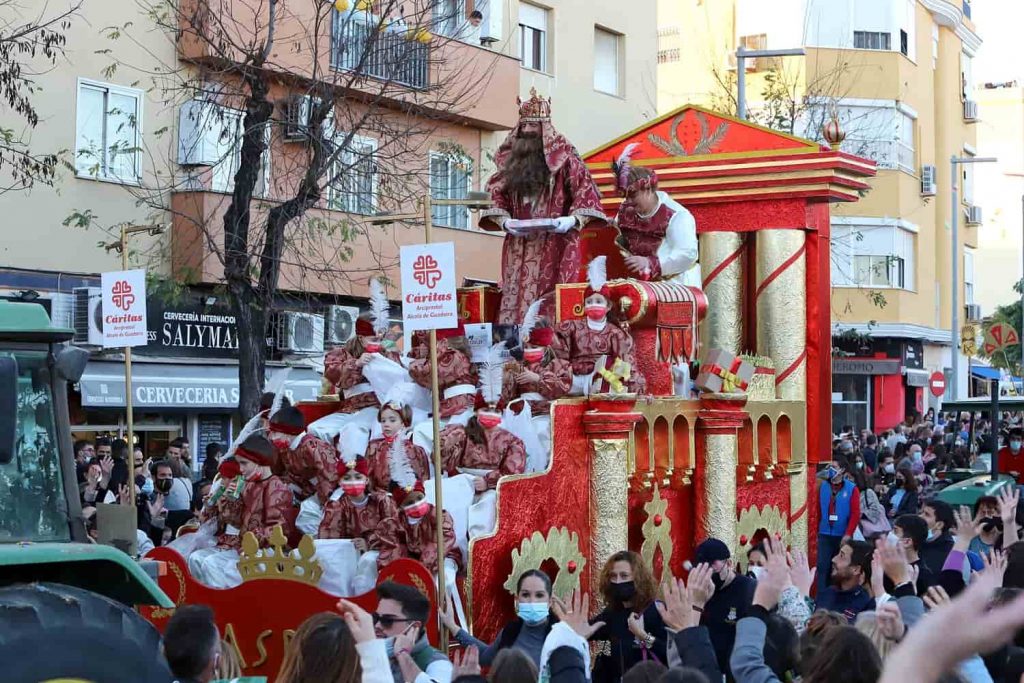
[[[600,596],[604,562],[629,548],[630,434],[642,419],[633,400],[592,399],[583,416],[590,440],[590,591]]]

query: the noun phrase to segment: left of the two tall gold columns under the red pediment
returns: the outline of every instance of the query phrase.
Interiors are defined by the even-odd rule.
[[[703,349],[739,354],[743,349],[743,246],[741,232],[700,236],[700,281],[708,316],[700,324]]]

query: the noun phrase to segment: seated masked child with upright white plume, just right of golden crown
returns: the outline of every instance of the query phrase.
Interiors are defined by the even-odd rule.
[[[315,541],[316,558],[324,569],[321,588],[337,595],[360,595],[377,583],[380,533],[393,533],[398,508],[385,490],[370,487],[370,465],[362,457],[370,434],[366,427],[348,424],[338,443],[338,488],[324,507]],[[393,546],[394,539],[386,542]]]

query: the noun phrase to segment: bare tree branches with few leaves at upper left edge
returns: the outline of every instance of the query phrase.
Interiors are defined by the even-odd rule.
[[[68,29],[82,2],[61,8],[34,4],[30,9],[17,0],[0,0],[0,100],[14,115],[10,127],[0,124],[0,171],[7,176],[0,195],[29,189],[36,182],[53,184],[63,154],[32,147],[31,130],[39,124],[32,96],[39,70],[63,56]]]

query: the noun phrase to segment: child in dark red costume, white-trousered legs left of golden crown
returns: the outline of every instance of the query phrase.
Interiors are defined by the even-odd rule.
[[[245,487],[242,489],[242,512],[239,527],[228,527],[217,540],[216,548],[197,550],[188,560],[188,570],[197,581],[213,588],[231,588],[242,583],[239,573],[241,537],[252,532],[261,548],[266,548],[274,526],[285,536],[292,531],[292,492],[272,469],[278,453],[266,437],[253,434],[234,451]],[[225,496],[233,494],[237,482],[228,484]]]

